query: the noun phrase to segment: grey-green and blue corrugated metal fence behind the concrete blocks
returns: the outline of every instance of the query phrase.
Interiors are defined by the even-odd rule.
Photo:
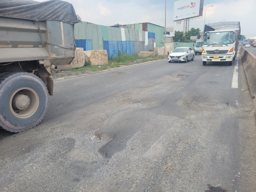
[[[76,47],[84,50],[107,50],[108,58],[119,52],[135,55],[154,51],[155,33],[142,30],[101,26],[88,22],[75,24]]]

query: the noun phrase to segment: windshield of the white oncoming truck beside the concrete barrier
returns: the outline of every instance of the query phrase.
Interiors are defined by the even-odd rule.
[[[232,44],[234,43],[234,32],[211,32],[204,35],[204,45]]]

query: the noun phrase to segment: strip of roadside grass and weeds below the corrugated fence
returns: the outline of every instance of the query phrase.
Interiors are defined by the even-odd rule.
[[[119,53],[119,56],[108,59],[108,64],[105,66],[91,66],[90,62],[85,62],[84,66],[79,68],[73,68],[70,70],[73,72],[84,71],[84,70],[98,71],[98,70],[105,70],[105,69],[110,69],[110,68],[115,68],[120,66],[130,66],[133,64],[138,64],[138,63],[148,62],[148,61],[155,61],[155,60],[160,60],[165,58],[166,56],[164,55],[155,55],[154,57],[141,57],[138,55],[125,55],[124,53]]]

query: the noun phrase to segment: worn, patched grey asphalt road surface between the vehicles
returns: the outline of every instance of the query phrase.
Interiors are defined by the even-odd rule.
[[[238,57],[67,76],[40,125],[0,131],[0,191],[255,192],[255,141]]]

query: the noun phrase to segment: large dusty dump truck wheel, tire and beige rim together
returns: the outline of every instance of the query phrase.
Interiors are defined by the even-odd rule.
[[[49,94],[44,82],[26,72],[0,76],[0,127],[14,133],[38,125],[44,118]]]

